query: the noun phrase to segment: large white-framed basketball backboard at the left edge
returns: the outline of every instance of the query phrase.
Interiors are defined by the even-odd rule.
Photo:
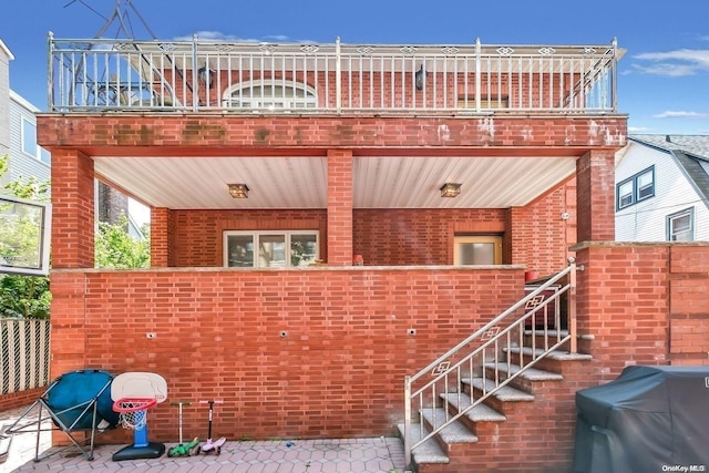
[[[0,195],[0,274],[47,276],[51,204]]]

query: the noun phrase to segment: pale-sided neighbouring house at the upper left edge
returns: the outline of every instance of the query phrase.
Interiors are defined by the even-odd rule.
[[[9,171],[0,183],[20,177],[50,178],[50,154],[37,144],[39,109],[10,90],[9,61],[13,56],[0,40],[0,155],[8,154]]]

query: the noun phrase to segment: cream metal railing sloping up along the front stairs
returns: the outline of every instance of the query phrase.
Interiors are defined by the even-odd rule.
[[[473,408],[481,404],[485,399],[493,395],[501,388],[508,384],[513,379],[534,366],[537,361],[546,357],[562,345],[569,343],[569,352],[576,352],[576,263],[574,258],[568,258],[569,265],[557,273],[545,282],[541,284],[524,298],[515,302],[512,307],[500,313],[490,322],[477,329],[473,335],[458,343],[448,352],[439,357],[428,367],[413,376],[404,378],[404,455],[407,466],[411,465],[412,452],[427,440],[465,415]],[[583,269],[579,267],[578,269]],[[563,284],[565,277],[568,278]],[[552,289],[552,290],[549,290]],[[551,295],[548,292],[552,292]],[[566,295],[566,321],[568,330],[561,329],[561,302],[562,296]],[[553,308],[554,329],[549,329],[548,312]],[[521,313],[522,312],[522,313]],[[542,320],[542,327],[537,327]],[[532,350],[525,356],[522,350],[524,337],[532,340]],[[542,341],[537,342],[537,337]],[[511,348],[520,348],[520,368],[514,373],[511,370],[510,357],[504,353]],[[502,379],[500,374],[499,360],[506,359],[507,376]],[[494,364],[492,379],[485,374],[485,366]],[[431,379],[420,387],[415,387],[417,381],[423,381],[423,377],[429,374]],[[471,402],[467,407],[462,407],[462,382],[475,376],[483,378],[481,394],[475,398],[471,389]],[[451,414],[449,402],[451,395],[458,400],[458,413]],[[445,418],[439,423],[438,415],[432,415],[430,431],[424,430],[423,412],[443,408]],[[418,411],[418,440],[413,440],[412,412]]]

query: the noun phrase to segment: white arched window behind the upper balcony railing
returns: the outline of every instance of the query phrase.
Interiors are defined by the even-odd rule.
[[[248,81],[234,85],[224,94],[224,106],[233,109],[290,110],[317,105],[315,89],[295,81]]]

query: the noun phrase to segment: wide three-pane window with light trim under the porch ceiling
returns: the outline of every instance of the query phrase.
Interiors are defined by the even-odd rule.
[[[224,266],[295,268],[318,259],[318,232],[225,232]]]

